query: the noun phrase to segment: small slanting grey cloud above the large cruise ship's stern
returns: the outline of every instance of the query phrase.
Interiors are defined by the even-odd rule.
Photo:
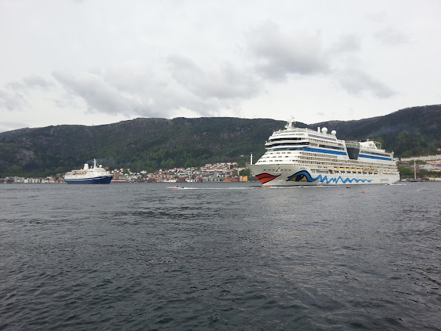
[[[347,69],[337,72],[338,81],[349,94],[370,92],[378,98],[386,99],[396,94],[378,79],[371,77],[366,72],[357,69]]]

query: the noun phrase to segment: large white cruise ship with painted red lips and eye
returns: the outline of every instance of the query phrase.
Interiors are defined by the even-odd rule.
[[[247,168],[268,186],[396,183],[400,180],[393,152],[376,141],[345,141],[327,128],[296,128],[271,134],[267,152]]]

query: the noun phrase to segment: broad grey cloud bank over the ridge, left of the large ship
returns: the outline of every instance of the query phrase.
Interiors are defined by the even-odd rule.
[[[167,117],[185,111],[216,116],[237,109],[240,100],[258,93],[260,85],[243,69],[223,63],[207,69],[182,56],[165,63],[122,63],[81,74],[54,72],[72,99],[81,98],[92,112],[126,117]]]

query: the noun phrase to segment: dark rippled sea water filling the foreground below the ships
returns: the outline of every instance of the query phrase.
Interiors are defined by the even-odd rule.
[[[441,184],[183,185],[1,184],[0,330],[441,330]]]

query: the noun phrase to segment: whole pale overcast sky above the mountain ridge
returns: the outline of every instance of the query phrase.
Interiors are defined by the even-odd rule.
[[[0,0],[0,132],[441,103],[439,0]]]

